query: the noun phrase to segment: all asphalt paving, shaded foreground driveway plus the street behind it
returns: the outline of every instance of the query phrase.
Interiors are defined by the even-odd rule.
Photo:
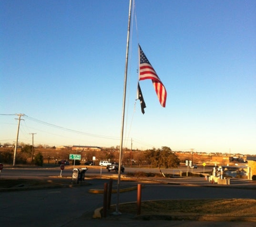
[[[88,167],[86,175],[100,175],[102,179],[86,179],[89,183],[79,187],[23,190],[23,191],[6,191],[0,193],[0,226],[2,227],[78,227],[82,225],[91,226],[254,226],[254,223],[236,223],[235,225],[222,222],[188,222],[188,221],[134,221],[130,217],[122,214],[112,218],[92,219],[93,212],[96,208],[102,207],[103,195],[89,193],[89,189],[103,188],[103,184],[108,180],[103,176],[111,177],[110,172],[105,168],[93,169]],[[185,168],[186,169],[186,168]],[[62,175],[72,176],[73,167],[69,166],[64,169]],[[142,169],[126,168],[126,172],[142,171]],[[157,172],[158,169],[145,170],[146,172]],[[163,173],[173,173],[175,169],[163,169]],[[181,171],[181,169],[177,169]],[[202,171],[195,169],[193,171]],[[49,176],[58,176],[60,168],[4,168],[1,172],[1,178],[47,178]],[[109,175],[110,174],[110,175]],[[209,186],[210,182],[204,178],[184,178],[184,179],[163,179],[169,183],[145,183],[142,188],[142,201],[162,200],[162,199],[181,199],[181,198],[255,198],[256,190],[246,189],[243,186],[233,187],[200,187]],[[0,179],[1,183],[1,179]],[[121,182],[121,185],[124,182]],[[125,182],[126,183],[126,182]],[[130,186],[136,186],[138,182],[130,182]],[[114,185],[116,181],[114,181]],[[185,185],[184,185],[185,184]],[[137,191],[127,191],[120,193],[119,202],[135,202],[137,200]],[[112,195],[112,204],[117,202],[117,195]]]

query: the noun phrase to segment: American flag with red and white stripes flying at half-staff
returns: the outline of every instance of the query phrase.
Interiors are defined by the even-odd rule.
[[[139,51],[140,51],[139,80],[147,80],[147,79],[152,80],[158,100],[160,101],[162,107],[165,107],[167,91],[165,90],[165,87],[161,82],[160,78],[157,76],[155,69],[151,66],[146,55],[143,53],[140,45],[139,45]]]

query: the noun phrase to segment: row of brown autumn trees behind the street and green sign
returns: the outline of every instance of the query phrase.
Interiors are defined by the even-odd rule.
[[[68,160],[69,154],[74,153],[72,150],[56,150],[54,148],[33,148],[32,145],[24,145],[16,155],[16,164],[56,164],[59,160]],[[92,161],[95,157],[95,165],[101,160],[110,162],[119,162],[119,147],[108,147],[102,151],[75,151],[81,154],[81,160],[75,161],[75,164],[83,165],[83,162]],[[14,151],[10,148],[1,149],[0,162],[12,164]],[[136,165],[139,167],[150,166],[151,168],[176,168],[181,160],[172,152],[170,147],[152,148],[145,151],[130,151],[123,148],[122,164],[126,166]]]

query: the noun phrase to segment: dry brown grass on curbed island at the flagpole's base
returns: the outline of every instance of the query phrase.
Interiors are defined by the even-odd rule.
[[[111,208],[114,211],[114,207]],[[137,214],[137,203],[119,205],[120,212]],[[141,203],[141,214],[196,214],[255,217],[256,200],[253,199],[204,199],[161,200]]]

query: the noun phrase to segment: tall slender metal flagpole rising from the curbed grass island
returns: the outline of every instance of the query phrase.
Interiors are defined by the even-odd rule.
[[[119,212],[119,194],[120,194],[121,162],[122,162],[122,150],[123,150],[124,113],[125,113],[125,109],[126,109],[126,84],[127,84],[127,68],[128,68],[128,54],[129,54],[129,40],[130,40],[130,15],[131,15],[131,11],[132,11],[132,0],[130,0],[130,4],[129,4],[128,31],[127,31],[127,44],[126,44],[126,66],[125,66],[125,70],[124,70],[123,107],[122,107],[122,122],[121,122],[118,180],[117,180],[117,202],[116,202],[116,210],[113,213],[113,214],[116,214],[116,215],[121,214],[121,212]]]

